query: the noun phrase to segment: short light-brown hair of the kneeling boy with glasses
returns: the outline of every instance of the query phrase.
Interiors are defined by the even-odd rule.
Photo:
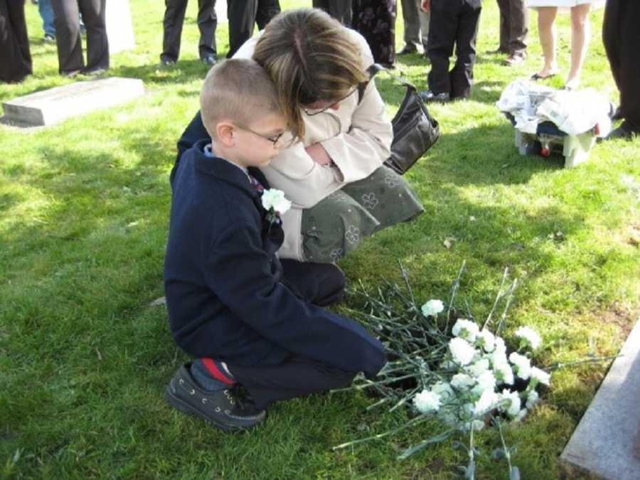
[[[200,93],[200,109],[212,138],[220,121],[249,125],[267,114],[282,114],[273,81],[250,58],[223,60],[209,70]]]

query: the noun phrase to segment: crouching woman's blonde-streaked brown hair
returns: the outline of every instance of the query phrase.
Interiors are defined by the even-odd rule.
[[[302,106],[339,100],[368,79],[358,44],[319,9],[287,10],[274,17],[257,41],[253,59],[274,81],[297,137],[304,136]]]

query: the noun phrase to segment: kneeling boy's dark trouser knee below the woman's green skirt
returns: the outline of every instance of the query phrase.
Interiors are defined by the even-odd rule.
[[[334,304],[342,299],[344,274],[331,263],[280,260],[282,281],[298,297],[319,306]]]

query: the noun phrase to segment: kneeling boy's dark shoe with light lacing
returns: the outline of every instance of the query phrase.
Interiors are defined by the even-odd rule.
[[[191,363],[181,366],[166,388],[165,398],[173,407],[198,415],[225,432],[246,430],[265,420],[265,410],[242,401],[233,388],[209,392],[198,387],[190,367]]]

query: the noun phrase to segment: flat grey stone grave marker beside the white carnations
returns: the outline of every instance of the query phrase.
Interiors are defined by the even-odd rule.
[[[607,480],[640,479],[640,321],[560,459]]]

